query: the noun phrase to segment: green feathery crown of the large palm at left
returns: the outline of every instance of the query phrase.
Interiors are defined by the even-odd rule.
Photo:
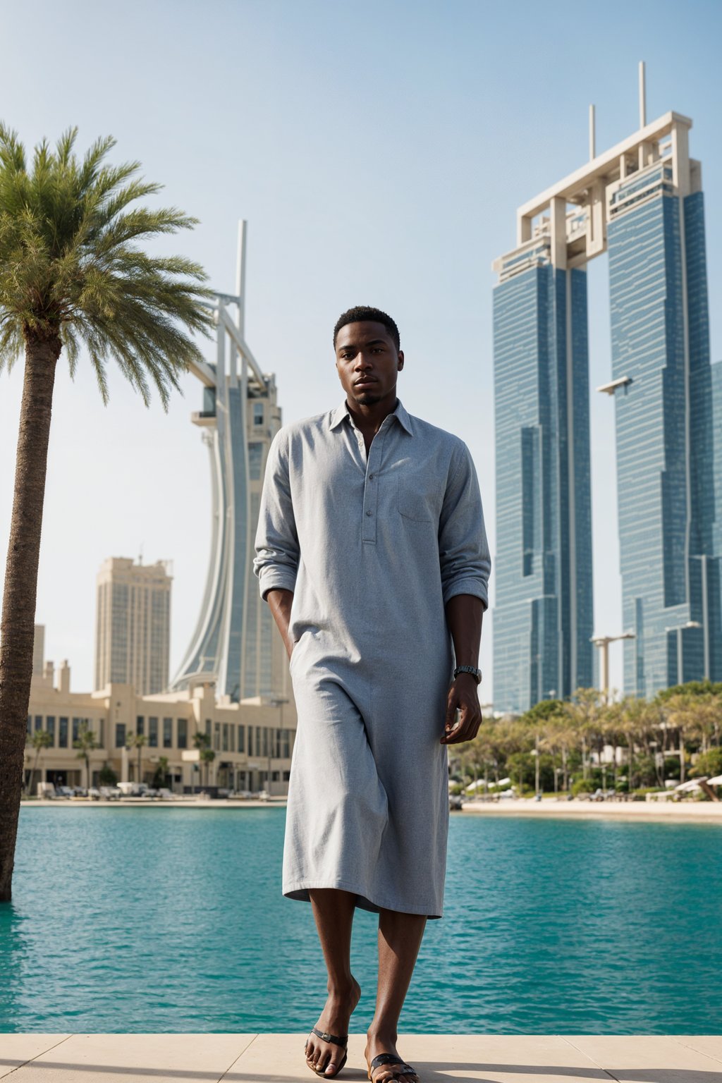
[[[104,403],[113,361],[146,405],[155,386],[167,409],[201,357],[193,336],[210,332],[210,290],[198,263],[144,246],[197,220],[139,206],[161,185],[140,178],[137,161],[109,165],[111,136],[80,160],[77,136],[68,128],[54,149],[38,144],[28,170],[16,132],[0,123],[0,368],[28,337],[55,336],[71,377],[84,344]]]

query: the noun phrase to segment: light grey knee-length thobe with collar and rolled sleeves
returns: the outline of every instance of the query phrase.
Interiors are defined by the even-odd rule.
[[[284,895],[340,888],[365,910],[441,917],[444,606],[462,593],[486,606],[490,570],[465,444],[401,402],[368,457],[345,403],[286,426],[268,452],[255,551],[262,597],[293,591]]]

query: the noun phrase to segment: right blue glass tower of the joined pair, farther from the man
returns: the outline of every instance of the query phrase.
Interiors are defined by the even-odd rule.
[[[672,134],[609,194],[625,690],[638,696],[722,677],[704,196],[686,126]]]

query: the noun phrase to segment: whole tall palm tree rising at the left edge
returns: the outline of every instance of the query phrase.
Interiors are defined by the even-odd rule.
[[[76,135],[68,130],[54,151],[40,143],[28,165],[17,134],[0,123],[0,369],[25,354],[0,623],[0,901],[12,892],[57,360],[65,349],[75,376],[84,344],[105,404],[110,358],[146,406],[149,377],[167,410],[179,374],[201,360],[188,332],[211,324],[201,268],[141,247],[195,219],[131,207],[159,185],[136,175],[139,162],[107,165],[110,138],[80,160]]]

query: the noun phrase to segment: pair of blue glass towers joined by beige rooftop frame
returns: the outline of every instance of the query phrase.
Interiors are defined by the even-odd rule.
[[[643,100],[642,100],[643,101]],[[701,170],[668,113],[517,211],[496,260],[494,701],[593,684],[587,274],[608,252],[626,694],[722,680],[722,363]],[[592,135],[593,144],[593,135]]]

